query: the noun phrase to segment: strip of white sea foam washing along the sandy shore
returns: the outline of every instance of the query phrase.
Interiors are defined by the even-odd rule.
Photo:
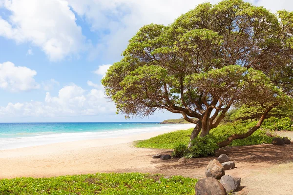
[[[51,143],[61,143],[68,141],[78,141],[86,139],[98,138],[114,138],[129,135],[137,135],[157,131],[170,131],[176,129],[188,129],[194,127],[194,124],[172,124],[162,125],[151,128],[135,128],[126,130],[114,131],[99,131],[99,132],[80,132],[80,133],[53,133],[41,132],[34,136],[26,137],[13,137],[13,138],[0,138],[0,150],[23,148],[30,146],[45,145]],[[21,135],[20,135],[21,136]]]

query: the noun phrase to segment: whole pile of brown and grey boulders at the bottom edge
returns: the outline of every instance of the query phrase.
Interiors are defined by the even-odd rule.
[[[229,156],[225,154],[209,161],[206,168],[207,178],[200,179],[196,183],[195,194],[227,195],[227,193],[236,191],[240,187],[241,178],[225,175],[225,170],[233,168],[235,168],[235,163],[230,161]]]

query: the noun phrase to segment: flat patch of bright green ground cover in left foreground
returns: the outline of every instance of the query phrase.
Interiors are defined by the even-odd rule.
[[[140,173],[0,180],[0,195],[194,195],[198,180]]]

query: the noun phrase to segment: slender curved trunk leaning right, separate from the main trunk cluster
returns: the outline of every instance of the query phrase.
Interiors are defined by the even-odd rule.
[[[256,130],[258,130],[263,123],[263,121],[266,119],[268,113],[272,110],[273,107],[269,107],[265,110],[265,112],[262,114],[260,119],[258,120],[257,124],[252,127],[247,133],[245,134],[233,134],[232,136],[228,137],[225,141],[222,141],[218,143],[219,148],[228,146],[233,140],[235,139],[244,139],[246,137],[251,136]]]

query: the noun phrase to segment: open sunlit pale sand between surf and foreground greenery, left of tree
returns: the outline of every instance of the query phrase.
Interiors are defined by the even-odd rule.
[[[16,177],[52,177],[95,173],[157,173],[151,157],[170,150],[136,148],[133,141],[167,132],[149,132],[117,138],[102,138],[53,143],[0,151],[0,179]]]

